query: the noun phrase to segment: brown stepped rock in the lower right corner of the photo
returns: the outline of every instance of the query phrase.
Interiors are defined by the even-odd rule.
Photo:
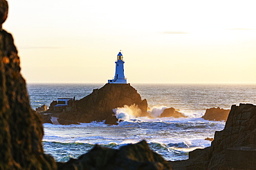
[[[173,169],[256,169],[256,106],[232,105],[225,128],[215,132],[210,147],[171,164]]]

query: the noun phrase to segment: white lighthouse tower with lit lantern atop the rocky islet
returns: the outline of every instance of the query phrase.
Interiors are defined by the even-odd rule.
[[[122,60],[122,53],[118,53],[118,60],[116,63],[116,74],[113,80],[109,80],[108,83],[116,83],[116,84],[127,84],[127,78],[125,78],[125,70],[124,70],[124,63],[125,61]]]

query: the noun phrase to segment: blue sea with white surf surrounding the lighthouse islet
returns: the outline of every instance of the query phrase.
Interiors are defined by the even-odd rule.
[[[30,105],[33,109],[49,106],[57,98],[79,100],[104,83],[28,83]],[[141,98],[147,99],[149,114],[154,118],[134,117],[129,108],[115,108],[122,113],[118,125],[104,122],[80,125],[44,123],[45,153],[58,162],[78,158],[95,145],[118,149],[124,145],[146,140],[149,147],[165,160],[185,160],[194,149],[210,147],[205,138],[214,138],[224,121],[204,120],[205,110],[212,107],[230,109],[239,103],[256,105],[256,84],[138,84],[131,83]],[[165,108],[174,107],[187,118],[158,118]]]

